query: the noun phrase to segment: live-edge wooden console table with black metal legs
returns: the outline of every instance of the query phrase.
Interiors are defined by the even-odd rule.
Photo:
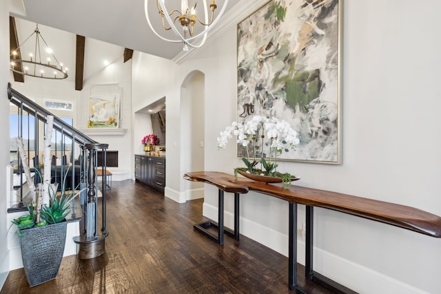
[[[219,207],[218,236],[209,236],[209,232],[204,232],[204,226],[195,225],[195,229],[203,231],[218,244],[223,244],[223,192],[231,192],[235,195],[234,209],[234,235],[238,239],[238,197],[240,193],[247,193],[249,190],[274,196],[289,202],[289,244],[288,244],[288,280],[289,288],[296,290],[297,293],[307,293],[305,289],[297,285],[297,204],[306,206],[306,249],[305,249],[305,276],[318,284],[331,288],[336,293],[355,293],[351,289],[338,284],[337,282],[320,275],[313,269],[313,229],[314,229],[314,207],[332,209],[342,213],[348,213],[361,218],[368,218],[378,222],[384,222],[403,229],[409,229],[417,233],[441,238],[441,217],[435,216],[427,211],[422,211],[413,207],[401,204],[351,196],[343,193],[311,189],[292,185],[290,189],[284,189],[278,185],[269,185],[263,182],[255,182],[245,178],[235,178],[233,175],[217,171],[197,171],[189,172],[184,175],[186,180],[194,182],[206,182],[207,184],[218,187]],[[237,198],[237,200],[236,200]],[[221,203],[222,202],[222,203]],[[237,202],[237,203],[236,203]],[[236,207],[237,205],[237,207]],[[212,222],[210,222],[211,224]],[[206,224],[206,226],[209,224]],[[217,238],[216,238],[217,237]]]

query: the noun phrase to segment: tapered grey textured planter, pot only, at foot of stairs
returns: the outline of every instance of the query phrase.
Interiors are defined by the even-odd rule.
[[[21,230],[19,237],[26,277],[31,287],[57,277],[66,240],[67,222]]]

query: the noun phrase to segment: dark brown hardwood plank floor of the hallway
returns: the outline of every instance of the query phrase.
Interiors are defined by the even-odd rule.
[[[285,256],[243,235],[218,246],[194,231],[205,220],[202,204],[178,204],[132,180],[113,182],[105,255],[63,258],[57,278],[33,288],[23,269],[11,271],[0,293],[294,293]],[[298,269],[298,284],[331,293]]]

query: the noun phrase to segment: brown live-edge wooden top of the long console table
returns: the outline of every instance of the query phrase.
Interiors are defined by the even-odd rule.
[[[441,238],[440,216],[414,207],[296,185],[284,189],[280,185],[255,182],[246,178],[236,179],[233,175],[218,171],[189,172],[184,178],[195,182],[207,182],[226,192],[258,191],[289,202],[349,213]]]

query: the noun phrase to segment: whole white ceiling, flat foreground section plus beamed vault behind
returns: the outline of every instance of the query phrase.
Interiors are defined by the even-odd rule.
[[[149,10],[155,10],[153,15],[158,14],[156,2],[149,1],[152,3]],[[219,8],[223,1],[216,1]],[[239,1],[242,0],[229,0],[227,10]],[[12,0],[11,7],[18,42],[28,38],[39,23],[39,30],[54,55],[69,68],[68,81],[76,81],[76,90],[81,90],[83,81],[105,67],[104,61],[113,63],[121,56],[130,59],[133,50],[165,59],[182,54],[181,43],[163,41],[150,30],[143,0]],[[159,19],[154,25],[162,31]],[[76,49],[77,45],[81,48],[81,41],[84,56]],[[25,59],[29,53],[21,50],[21,54]],[[83,58],[82,77],[75,73],[81,63],[78,58]]]

